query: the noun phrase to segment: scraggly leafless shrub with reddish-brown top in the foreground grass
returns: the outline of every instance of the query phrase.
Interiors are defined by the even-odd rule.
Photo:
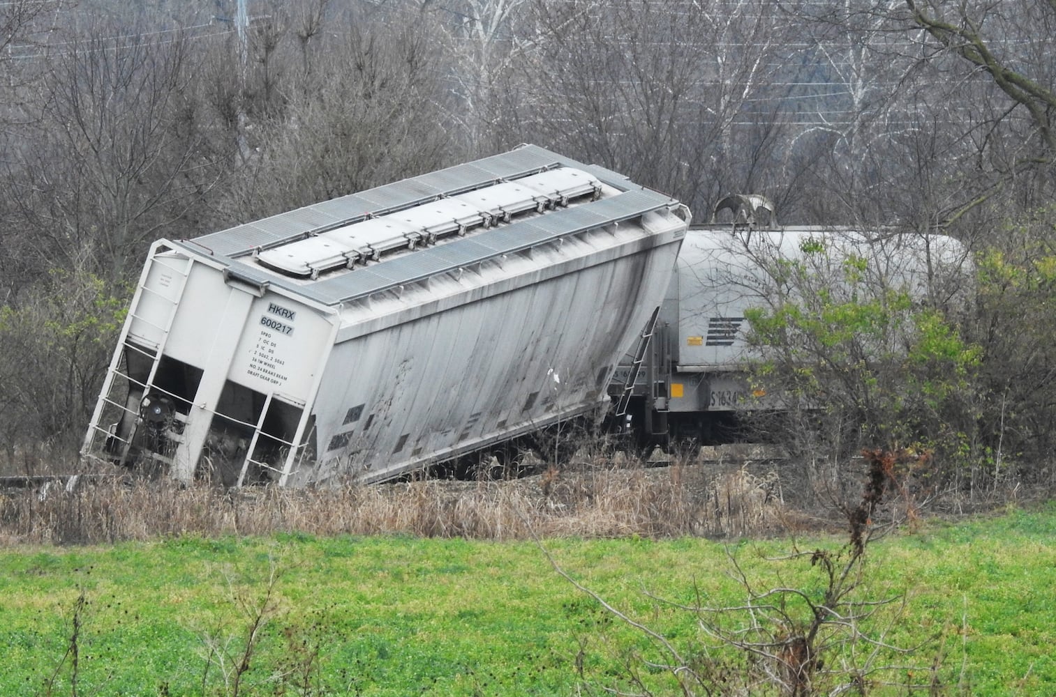
[[[862,498],[854,505],[843,506],[849,525],[844,546],[794,548],[789,555],[766,560],[767,564],[791,564],[793,568],[775,570],[776,578],[766,577],[765,581],[751,578],[737,557],[729,554],[730,574],[744,594],[744,600],[737,604],[711,605],[709,594],[699,586],[694,588],[696,602],[691,604],[646,594],[659,605],[695,617],[698,634],[687,641],[673,641],[653,623],[621,612],[554,563],[562,576],[637,631],[649,647],[647,655],[623,657],[619,682],[626,686],[615,684],[611,692],[782,697],[866,695],[874,689],[891,688],[904,694],[941,692],[939,654],[930,663],[912,662],[913,656],[937,638],[927,637],[913,646],[892,643],[888,637],[904,616],[905,599],[878,596],[868,586],[867,574],[867,549],[880,529],[874,524],[876,512],[888,495],[900,497],[907,512],[912,511],[899,475],[925,457],[880,450],[864,456],[868,467]],[[728,477],[738,482],[747,479],[737,472]],[[727,487],[728,492],[736,489]],[[741,497],[739,504],[748,500]],[[731,510],[729,504],[725,508]],[[666,675],[667,680],[657,674]]]

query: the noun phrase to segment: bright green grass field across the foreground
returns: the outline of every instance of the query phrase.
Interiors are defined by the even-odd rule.
[[[809,563],[762,557],[841,542],[729,550],[760,586],[810,593]],[[687,652],[702,639],[695,614],[650,594],[684,604],[743,597],[728,548],[714,541],[543,546],[578,582]],[[628,656],[649,656],[639,632],[531,542],[177,538],[7,547],[0,569],[2,695],[598,694],[621,683]],[[888,639],[939,636],[899,660],[941,656],[949,694],[1056,693],[1056,506],[888,537],[872,545],[860,593],[906,594]],[[240,674],[256,617],[264,623]],[[662,671],[652,673],[658,694],[674,694]]]

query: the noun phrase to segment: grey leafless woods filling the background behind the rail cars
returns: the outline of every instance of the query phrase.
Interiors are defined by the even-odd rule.
[[[943,322],[974,360],[928,423],[973,477],[1056,477],[1056,0],[244,6],[0,2],[8,454],[76,449],[154,239],[534,142],[698,220],[762,193],[959,238],[978,278]]]

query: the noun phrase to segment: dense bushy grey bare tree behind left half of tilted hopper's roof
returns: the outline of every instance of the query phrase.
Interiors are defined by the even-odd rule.
[[[435,47],[418,27],[342,26],[285,117],[258,127],[258,151],[221,202],[229,222],[305,206],[436,169],[451,134]]]

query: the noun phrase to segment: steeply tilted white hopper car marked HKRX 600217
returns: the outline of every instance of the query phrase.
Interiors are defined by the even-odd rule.
[[[82,453],[382,481],[602,404],[689,211],[512,152],[150,251]]]

